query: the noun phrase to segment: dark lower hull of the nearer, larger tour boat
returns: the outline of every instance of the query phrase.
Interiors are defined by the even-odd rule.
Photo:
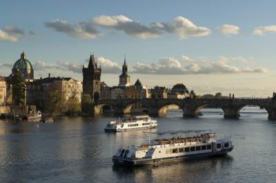
[[[120,165],[120,166],[143,166],[143,165],[150,165],[150,164],[164,164],[168,162],[179,162],[179,161],[188,160],[188,159],[208,158],[210,156],[215,156],[215,155],[225,155],[232,150],[233,150],[233,147],[228,149],[223,149],[221,151],[217,151],[216,153],[200,153],[200,154],[193,154],[193,155],[180,155],[180,156],[169,157],[169,158],[142,159],[142,160],[131,160],[131,159],[125,159],[125,158],[113,156],[112,162],[115,165]]]

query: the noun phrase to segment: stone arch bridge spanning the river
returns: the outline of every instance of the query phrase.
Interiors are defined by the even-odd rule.
[[[169,105],[177,105],[182,109],[185,117],[199,116],[199,110],[210,106],[221,108],[224,111],[224,118],[239,118],[239,111],[246,105],[257,105],[266,109],[269,120],[276,120],[276,100],[266,99],[111,99],[99,100],[93,105],[94,114],[102,114],[103,106],[109,106],[115,114],[128,114],[136,103],[140,103],[146,109],[150,116],[166,114]]]

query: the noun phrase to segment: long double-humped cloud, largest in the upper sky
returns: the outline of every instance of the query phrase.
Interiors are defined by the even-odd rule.
[[[103,15],[92,19],[92,23],[104,28],[121,30],[130,36],[135,36],[140,39],[156,38],[164,34],[164,32],[175,33],[179,35],[180,39],[191,36],[207,36],[211,33],[211,30],[208,28],[199,27],[184,17],[176,17],[173,21],[168,23],[152,22],[149,26],[146,26],[124,15]]]

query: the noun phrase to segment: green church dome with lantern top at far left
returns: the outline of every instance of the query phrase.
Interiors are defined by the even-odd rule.
[[[12,67],[12,74],[20,72],[21,76],[25,79],[34,78],[34,70],[32,64],[25,58],[24,52],[21,54],[21,58],[17,60]]]

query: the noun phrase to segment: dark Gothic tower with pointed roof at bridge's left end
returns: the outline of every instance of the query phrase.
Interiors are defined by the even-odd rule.
[[[100,81],[101,81],[101,67],[97,67],[94,54],[90,55],[88,67],[83,65],[83,94],[89,94],[92,101],[97,101],[100,98]]]

